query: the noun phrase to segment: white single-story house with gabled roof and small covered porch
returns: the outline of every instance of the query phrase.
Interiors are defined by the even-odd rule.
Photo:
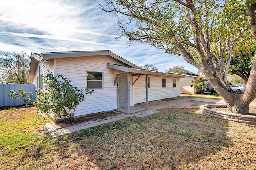
[[[28,82],[43,88],[42,75],[63,74],[79,89],[93,89],[75,116],[110,111],[148,101],[180,96],[183,75],[143,70],[111,51],[31,53]],[[146,86],[148,80],[148,86]]]

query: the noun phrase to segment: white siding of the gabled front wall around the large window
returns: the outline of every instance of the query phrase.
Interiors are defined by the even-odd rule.
[[[94,93],[85,96],[85,101],[80,102],[75,116],[108,111],[117,108],[117,77],[113,69],[107,68],[107,63],[119,64],[118,61],[106,56],[72,57],[56,59],[56,74],[63,74],[78,88],[86,88],[86,72],[103,73],[103,89],[93,89]]]

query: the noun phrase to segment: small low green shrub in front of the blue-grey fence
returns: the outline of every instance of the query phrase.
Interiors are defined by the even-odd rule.
[[[14,90],[10,90],[8,96],[9,98],[12,97],[12,99],[19,99],[19,98],[22,98],[21,100],[24,102],[24,104],[26,102],[30,102],[32,100],[32,95],[33,93],[31,92],[26,92],[26,91],[23,91],[23,89],[18,89],[16,91]],[[28,105],[25,105],[25,107],[27,107]]]

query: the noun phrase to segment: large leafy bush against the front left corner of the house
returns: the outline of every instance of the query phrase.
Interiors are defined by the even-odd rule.
[[[43,113],[53,112],[55,116],[60,117],[67,123],[74,122],[74,113],[76,107],[84,101],[84,94],[92,94],[94,90],[78,89],[71,84],[63,75],[53,76],[48,72],[43,76],[45,89],[36,91],[37,99],[34,101],[38,111]]]

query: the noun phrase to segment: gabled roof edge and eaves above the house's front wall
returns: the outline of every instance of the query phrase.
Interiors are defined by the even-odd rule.
[[[126,66],[130,66],[133,68],[140,68],[139,66],[136,66],[135,64],[131,63],[130,61],[127,61],[126,59],[112,53],[109,50],[103,50],[103,51],[68,51],[68,52],[49,52],[49,53],[31,53],[30,57],[30,67],[28,72],[28,82],[32,82],[35,76],[37,65],[40,61],[45,59],[58,59],[58,58],[66,58],[66,57],[88,57],[88,56],[99,56],[99,55],[105,55],[107,57],[110,57],[111,59],[114,59],[120,63],[123,63]]]

